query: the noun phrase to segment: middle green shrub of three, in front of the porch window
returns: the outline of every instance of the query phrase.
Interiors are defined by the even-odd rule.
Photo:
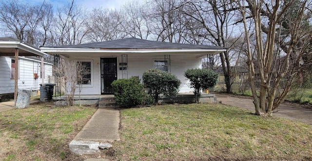
[[[159,94],[169,97],[176,96],[181,84],[181,81],[175,75],[158,69],[145,71],[142,79],[148,93],[154,97],[156,103]]]

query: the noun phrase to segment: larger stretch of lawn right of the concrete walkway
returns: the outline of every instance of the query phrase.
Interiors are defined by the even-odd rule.
[[[312,160],[312,126],[222,104],[121,110],[117,160]]]

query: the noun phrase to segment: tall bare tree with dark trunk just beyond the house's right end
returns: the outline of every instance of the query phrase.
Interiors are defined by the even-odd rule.
[[[204,38],[203,44],[214,44],[229,49],[227,52],[220,53],[226,92],[232,92],[230,50],[235,42],[235,40],[229,41],[230,38],[233,39],[231,24],[234,18],[234,14],[229,10],[229,4],[229,0],[195,0],[187,2],[182,8],[182,13],[192,20],[188,23],[189,28],[203,29],[199,33],[193,32],[193,37]]]

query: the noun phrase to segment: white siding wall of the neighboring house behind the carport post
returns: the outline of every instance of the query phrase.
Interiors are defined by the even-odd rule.
[[[11,59],[14,57],[0,57],[0,94],[14,93],[14,79],[11,79]],[[39,90],[40,78],[40,60],[19,57],[19,89]],[[48,76],[52,76],[52,64],[44,63],[45,81],[48,82]],[[34,79],[34,73],[38,73],[39,78]]]

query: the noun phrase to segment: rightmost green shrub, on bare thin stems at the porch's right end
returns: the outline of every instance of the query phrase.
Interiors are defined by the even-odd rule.
[[[194,88],[195,102],[199,102],[200,91],[215,86],[218,73],[208,69],[188,69],[184,76],[191,81],[190,86]]]

